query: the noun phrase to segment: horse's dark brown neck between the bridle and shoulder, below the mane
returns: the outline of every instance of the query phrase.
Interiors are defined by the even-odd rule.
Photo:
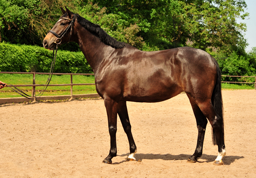
[[[101,61],[114,50],[83,27],[78,30],[77,38],[77,43],[94,72],[97,71]]]

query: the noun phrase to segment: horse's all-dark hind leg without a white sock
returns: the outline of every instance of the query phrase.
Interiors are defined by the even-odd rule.
[[[198,107],[198,105],[192,100],[189,95],[188,98],[190,100],[194,115],[196,117],[196,125],[198,129],[198,138],[196,144],[196,150],[192,156],[188,158],[188,162],[196,162],[197,158],[202,156],[203,152],[203,144],[204,144],[204,134],[207,125],[207,119]]]

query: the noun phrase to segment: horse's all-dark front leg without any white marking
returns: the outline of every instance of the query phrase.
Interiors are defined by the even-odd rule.
[[[104,99],[104,104],[106,107],[108,115],[108,131],[110,134],[110,152],[108,156],[103,160],[104,163],[111,164],[112,158],[116,156],[116,117],[117,117],[117,106],[118,103],[114,100],[108,98]]]

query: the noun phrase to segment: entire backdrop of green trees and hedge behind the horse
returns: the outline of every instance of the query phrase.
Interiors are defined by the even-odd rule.
[[[40,47],[48,30],[62,15],[60,6],[67,6],[99,24],[110,36],[138,49],[196,47],[213,55],[224,75],[256,75],[256,48],[245,51],[246,25],[236,22],[236,18],[248,18],[244,0],[0,0],[0,42],[5,42],[0,45],[2,71],[47,71],[48,59],[42,56],[47,58],[49,54]],[[24,44],[39,47],[25,49]],[[60,49],[80,50],[74,43],[64,44]],[[32,54],[34,50],[40,51],[40,55],[33,54],[34,60],[21,59],[30,57],[24,51]],[[82,72],[83,69],[72,65],[77,61],[81,68],[88,65],[82,63],[84,57],[80,54],[72,54],[72,62],[61,59],[59,66],[70,69],[58,70]],[[80,59],[76,59],[78,56]]]

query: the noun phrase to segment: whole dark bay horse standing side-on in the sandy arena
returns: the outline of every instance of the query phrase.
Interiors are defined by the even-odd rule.
[[[63,15],[44,38],[44,47],[76,42],[95,74],[98,94],[104,99],[108,115],[110,152],[103,160],[112,163],[116,156],[117,114],[127,134],[130,155],[136,160],[136,145],[131,133],[126,101],[160,102],[182,91],[188,96],[198,128],[196,150],[188,162],[202,156],[206,124],[212,125],[212,140],[218,145],[214,161],[222,165],[226,154],[224,144],[223,105],[220,68],[205,51],[192,47],[178,47],[163,51],[140,51],[118,42],[100,26],[73,14],[66,8]],[[207,121],[208,119],[208,121]]]

